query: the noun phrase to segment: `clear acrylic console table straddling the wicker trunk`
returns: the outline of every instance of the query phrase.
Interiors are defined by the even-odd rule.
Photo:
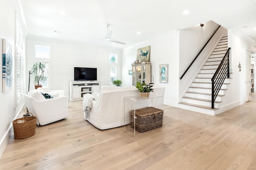
[[[131,133],[136,134],[136,109],[144,107],[155,107],[163,110],[163,125],[164,125],[164,96],[153,96],[149,98],[140,98],[139,96],[132,96],[124,98],[124,128]],[[134,111],[134,117],[131,117],[130,111]],[[130,123],[134,119],[134,129]]]

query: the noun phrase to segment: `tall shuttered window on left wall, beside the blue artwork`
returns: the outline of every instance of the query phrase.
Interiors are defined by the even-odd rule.
[[[17,103],[24,94],[24,61],[23,61],[23,33],[18,21],[16,21],[16,98]]]

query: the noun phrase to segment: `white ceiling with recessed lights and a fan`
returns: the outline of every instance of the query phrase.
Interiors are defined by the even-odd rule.
[[[126,48],[212,20],[256,41],[256,0],[21,0],[28,35]],[[66,16],[59,14],[65,11]],[[184,10],[190,13],[183,15]],[[106,24],[112,39],[103,40]],[[242,28],[246,26],[246,28]],[[53,35],[54,31],[60,32]],[[137,35],[136,32],[141,34]],[[254,42],[255,46],[256,43]],[[256,52],[256,47],[254,47]]]

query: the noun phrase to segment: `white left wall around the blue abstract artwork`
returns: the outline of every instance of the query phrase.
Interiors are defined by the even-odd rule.
[[[6,39],[12,45],[12,65],[13,65],[13,82],[12,82],[12,90],[6,93],[2,93],[2,89],[0,90],[0,108],[1,108],[1,119],[0,119],[0,157],[4,152],[4,149],[10,139],[10,134],[13,133],[12,130],[12,121],[16,119],[17,115],[22,110],[22,106],[24,102],[20,104],[16,103],[16,74],[15,74],[15,11],[17,12],[17,18],[22,18],[20,16],[21,10],[18,3],[18,0],[1,0],[0,5],[0,38]],[[20,20],[20,24],[22,20]],[[24,34],[26,33],[25,30]],[[2,47],[0,48],[2,50]],[[2,55],[0,56],[2,58]],[[0,64],[2,72],[2,63]],[[1,76],[2,78],[2,76]],[[2,88],[2,84],[0,85]]]

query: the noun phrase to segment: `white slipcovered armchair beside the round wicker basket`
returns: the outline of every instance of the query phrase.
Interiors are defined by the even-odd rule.
[[[32,92],[33,91],[33,92]],[[68,117],[66,96],[45,99],[37,90],[23,94],[28,111],[37,117],[37,125],[46,125]]]

